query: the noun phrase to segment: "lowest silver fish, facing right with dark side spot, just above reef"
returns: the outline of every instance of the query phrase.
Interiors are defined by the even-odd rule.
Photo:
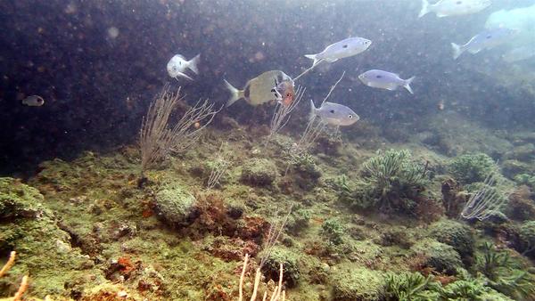
[[[314,102],[310,100],[310,118],[315,116],[331,126],[350,126],[360,119],[357,113],[342,104],[324,102],[317,109]]]

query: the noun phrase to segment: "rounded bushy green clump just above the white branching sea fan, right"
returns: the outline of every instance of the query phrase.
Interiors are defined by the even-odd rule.
[[[496,171],[498,166],[488,155],[479,152],[465,154],[451,161],[449,164],[449,173],[457,181],[464,184],[483,182],[487,175]]]

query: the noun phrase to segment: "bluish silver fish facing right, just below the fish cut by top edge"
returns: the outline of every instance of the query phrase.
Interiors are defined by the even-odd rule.
[[[511,28],[492,28],[475,35],[465,45],[451,43],[453,59],[457,60],[465,51],[475,54],[481,52],[483,49],[490,49],[502,45],[510,41],[517,33],[518,30]]]

